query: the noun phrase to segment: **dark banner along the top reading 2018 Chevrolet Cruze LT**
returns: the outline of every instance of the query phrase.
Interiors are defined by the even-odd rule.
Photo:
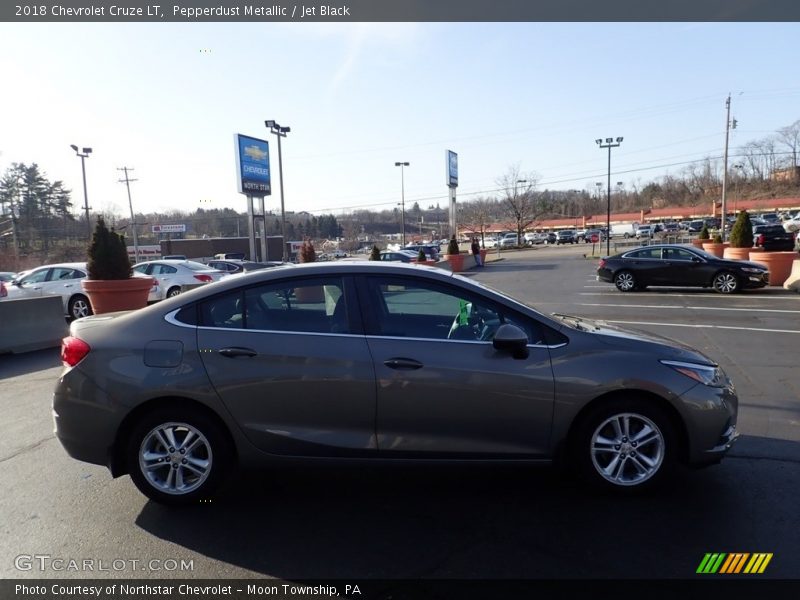
[[[9,22],[798,21],[797,0],[62,0],[0,3]]]

